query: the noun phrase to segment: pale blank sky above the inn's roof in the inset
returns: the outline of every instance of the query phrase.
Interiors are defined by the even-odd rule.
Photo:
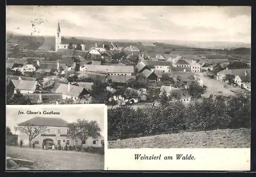
[[[9,105],[8,105],[9,106]],[[24,122],[26,120],[32,119],[36,116],[38,117],[55,117],[66,120],[67,122],[75,122],[77,119],[86,119],[88,121],[96,120],[101,128],[101,135],[104,136],[104,107],[101,105],[93,105],[93,104],[82,104],[82,106],[78,107],[77,105],[11,105],[6,108],[6,126],[10,127],[12,133],[14,134],[14,126],[17,126],[18,123]],[[18,111],[22,111],[24,113],[27,110],[31,110],[32,112],[36,111],[53,111],[59,112],[59,115],[18,115]]]

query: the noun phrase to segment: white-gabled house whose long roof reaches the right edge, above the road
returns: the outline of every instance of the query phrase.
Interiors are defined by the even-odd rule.
[[[226,70],[222,70],[220,72],[217,73],[217,80],[225,82],[226,81],[226,75],[232,75],[232,76],[239,76],[239,75],[243,75],[243,74],[248,74],[250,75],[250,69],[234,69],[234,70],[229,70],[228,68],[226,68]]]

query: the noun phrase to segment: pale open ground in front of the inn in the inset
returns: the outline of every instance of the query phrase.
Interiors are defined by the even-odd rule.
[[[104,156],[87,152],[42,150],[6,146],[6,154],[12,158],[36,162],[35,170],[103,170]]]

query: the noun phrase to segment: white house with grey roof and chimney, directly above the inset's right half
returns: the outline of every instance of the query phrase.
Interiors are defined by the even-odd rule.
[[[84,86],[71,85],[70,82],[68,84],[55,83],[52,92],[62,94],[62,99],[72,98],[74,101],[89,94]]]

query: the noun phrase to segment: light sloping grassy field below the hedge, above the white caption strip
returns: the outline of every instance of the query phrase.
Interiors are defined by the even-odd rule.
[[[249,148],[250,129],[224,129],[109,141],[108,148]]]

